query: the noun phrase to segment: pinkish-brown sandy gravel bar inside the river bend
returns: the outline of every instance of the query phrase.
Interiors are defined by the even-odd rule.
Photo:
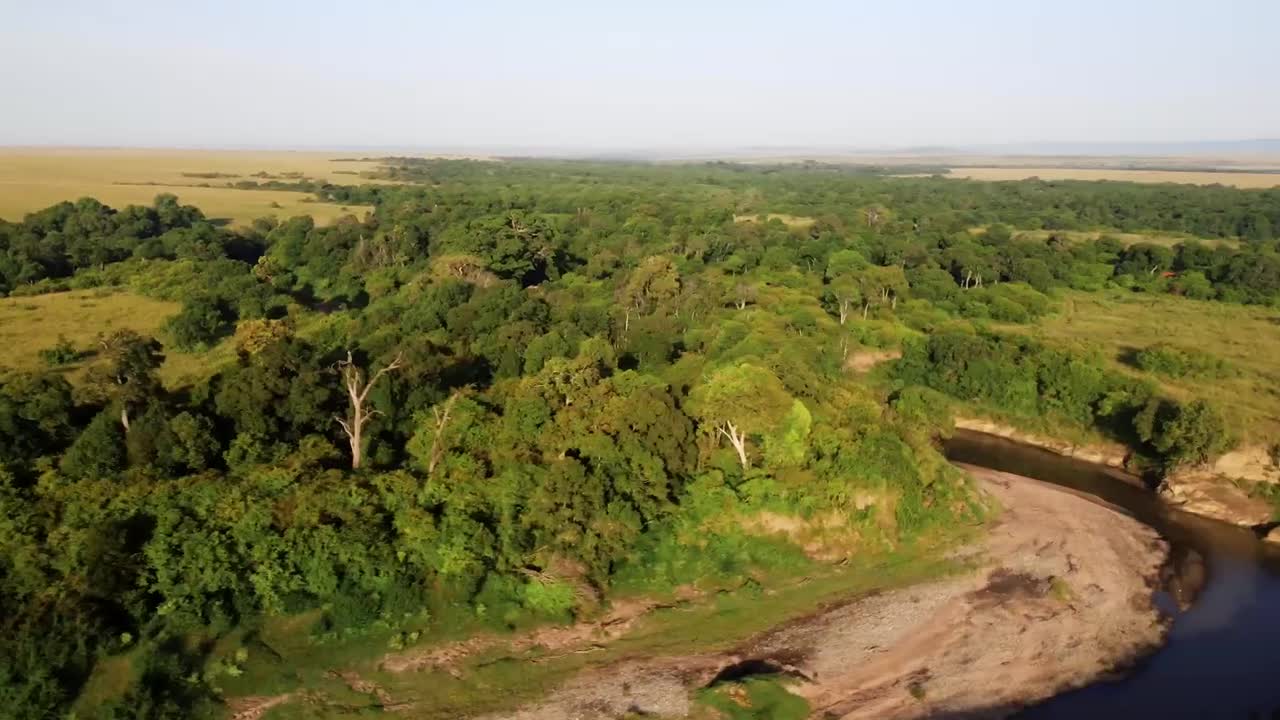
[[[732,653],[584,673],[492,720],[680,717],[727,667],[773,667],[823,719],[1009,715],[1084,685],[1162,642],[1151,602],[1167,546],[1140,523],[1053,486],[966,468],[1005,507],[964,577],[797,620]]]

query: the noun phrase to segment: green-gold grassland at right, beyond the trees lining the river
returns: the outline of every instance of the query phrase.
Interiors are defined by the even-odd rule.
[[[1139,374],[1124,359],[1167,342],[1210,352],[1236,373],[1229,377],[1157,379],[1172,396],[1217,404],[1243,439],[1280,439],[1280,311],[1253,305],[1188,300],[1172,295],[1070,292],[1061,313],[1036,325],[1010,325],[1059,346],[1098,350],[1112,366]]]

